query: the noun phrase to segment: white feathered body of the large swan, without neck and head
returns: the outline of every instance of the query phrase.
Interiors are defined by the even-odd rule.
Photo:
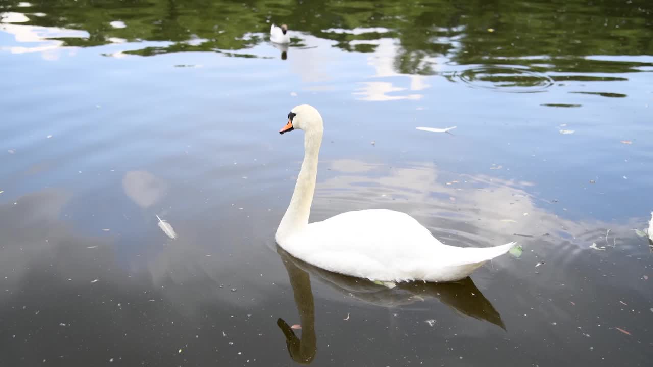
[[[386,281],[465,278],[513,246],[446,246],[413,217],[393,210],[345,212],[311,223],[279,245],[320,268]]]

